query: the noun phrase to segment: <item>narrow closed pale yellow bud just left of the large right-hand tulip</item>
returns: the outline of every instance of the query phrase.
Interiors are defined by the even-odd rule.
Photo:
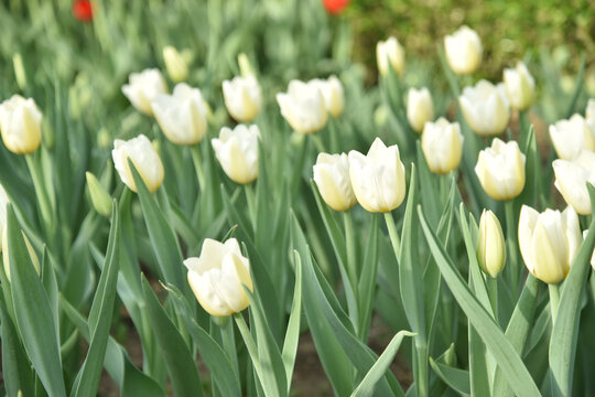
[[[506,262],[502,227],[500,221],[489,210],[484,210],[479,219],[477,260],[482,270],[494,278],[502,270]]]

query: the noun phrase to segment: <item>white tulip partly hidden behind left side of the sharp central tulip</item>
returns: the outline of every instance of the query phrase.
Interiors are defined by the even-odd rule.
[[[347,211],[356,203],[349,180],[347,154],[320,153],[313,168],[314,182],[324,202],[335,211]]]

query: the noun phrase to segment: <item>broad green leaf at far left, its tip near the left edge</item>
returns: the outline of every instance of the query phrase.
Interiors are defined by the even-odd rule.
[[[19,334],[47,393],[56,397],[66,396],[57,324],[11,204],[7,205],[7,225],[12,301]]]

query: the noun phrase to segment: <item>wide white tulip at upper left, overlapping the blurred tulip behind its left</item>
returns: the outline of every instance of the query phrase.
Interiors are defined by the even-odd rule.
[[[180,83],[172,95],[158,95],[151,108],[163,133],[175,144],[198,143],[206,133],[207,109],[198,88]]]

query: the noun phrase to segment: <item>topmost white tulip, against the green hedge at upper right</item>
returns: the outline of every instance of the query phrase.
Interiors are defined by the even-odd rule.
[[[446,61],[451,69],[458,75],[472,74],[482,63],[482,41],[468,26],[461,26],[456,32],[444,37]]]

